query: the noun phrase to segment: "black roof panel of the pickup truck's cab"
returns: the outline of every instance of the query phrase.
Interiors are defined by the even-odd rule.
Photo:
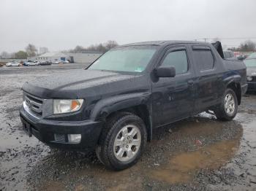
[[[141,45],[167,45],[167,44],[209,44],[208,42],[198,42],[198,41],[177,41],[177,40],[165,40],[165,41],[148,41],[148,42],[135,42],[129,44],[123,44],[118,47],[127,47],[127,46],[141,46]]]

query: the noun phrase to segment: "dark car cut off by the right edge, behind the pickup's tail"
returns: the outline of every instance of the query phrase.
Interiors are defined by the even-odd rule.
[[[248,91],[256,91],[256,53],[244,60],[247,72]]]

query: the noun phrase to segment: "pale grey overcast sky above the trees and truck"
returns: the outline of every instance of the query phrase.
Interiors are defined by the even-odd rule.
[[[255,0],[0,0],[0,52],[27,44],[68,50],[116,40],[256,41]],[[209,40],[211,41],[211,40]]]

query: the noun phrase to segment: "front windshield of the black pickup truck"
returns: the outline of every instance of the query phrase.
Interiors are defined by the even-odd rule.
[[[118,47],[106,52],[89,69],[142,72],[146,69],[157,47]]]

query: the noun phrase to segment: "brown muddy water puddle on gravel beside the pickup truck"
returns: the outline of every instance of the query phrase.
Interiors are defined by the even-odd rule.
[[[153,169],[151,178],[171,184],[189,182],[196,170],[225,165],[236,154],[240,139],[241,133],[233,140],[219,141],[193,152],[181,152],[170,158],[167,165]]]

